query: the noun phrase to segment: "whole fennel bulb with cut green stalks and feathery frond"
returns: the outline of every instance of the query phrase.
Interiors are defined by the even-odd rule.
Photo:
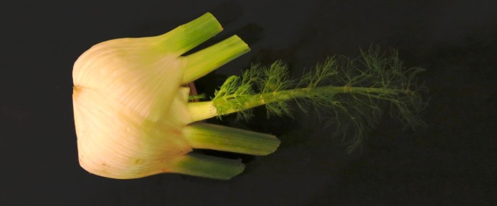
[[[241,77],[229,77],[210,101],[188,102],[182,87],[249,52],[231,36],[190,55],[188,50],[222,31],[210,13],[160,36],[119,38],[94,45],[75,62],[72,94],[80,166],[107,178],[143,178],[180,173],[227,180],[244,170],[240,160],[193,153],[206,148],[263,156],[280,141],[271,134],[198,122],[236,112],[249,119],[251,108],[266,105],[268,115],[292,115],[289,100],[307,111],[323,111],[342,135],[352,135],[351,149],[366,137],[391,104],[391,114],[409,126],[423,102],[415,75],[405,70],[395,51],[383,57],[378,48],[360,60],[328,58],[291,80],[277,61],[253,65]]]

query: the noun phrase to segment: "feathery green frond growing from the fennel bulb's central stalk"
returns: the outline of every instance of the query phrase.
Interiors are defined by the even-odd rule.
[[[249,119],[251,108],[263,104],[268,116],[292,116],[291,99],[304,112],[310,104],[327,124],[337,126],[336,135],[351,139],[352,151],[385,113],[413,129],[424,125],[417,116],[425,107],[422,93],[427,91],[417,82],[422,71],[403,67],[396,50],[383,54],[371,47],[361,50],[361,58],[327,58],[295,83],[287,65],[278,60],[269,67],[252,65],[241,77],[229,77],[212,102],[217,114],[238,112],[239,119]]]

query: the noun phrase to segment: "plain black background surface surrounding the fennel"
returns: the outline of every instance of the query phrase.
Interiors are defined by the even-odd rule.
[[[0,2],[0,205],[496,204],[495,5],[15,2]],[[252,49],[217,75],[277,59],[298,72],[327,55],[356,56],[371,43],[398,48],[406,65],[427,69],[427,129],[403,131],[385,119],[349,155],[313,117],[262,116],[246,125],[226,119],[278,134],[282,146],[244,157],[246,172],[229,181],[174,174],[112,180],[80,168],[71,99],[77,57],[104,40],[159,35],[207,11],[225,28],[212,43],[239,34]]]

